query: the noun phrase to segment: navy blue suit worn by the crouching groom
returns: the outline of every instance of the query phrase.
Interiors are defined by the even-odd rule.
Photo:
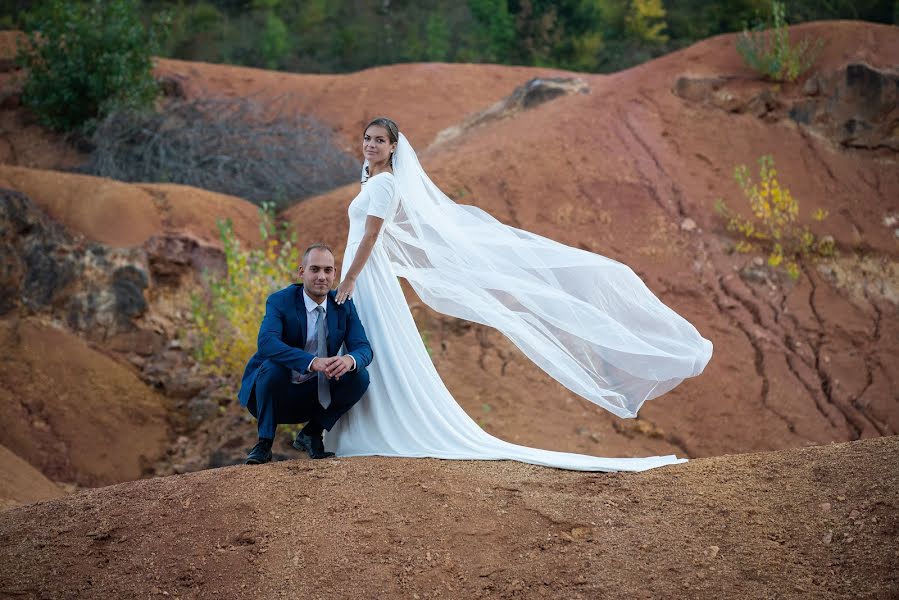
[[[330,380],[331,405],[318,402],[317,378],[291,383],[291,370],[307,374],[314,354],[306,344],[306,305],[303,286],[293,284],[268,297],[265,317],[259,327],[257,352],[247,363],[238,398],[259,420],[259,437],[272,439],[281,423],[315,421],[330,430],[334,423],[359,401],[368,388],[372,351],[365,328],[352,300],[337,304],[335,292],[328,293],[325,312],[328,326],[328,356],[336,356],[341,346],[356,360],[356,369]]]

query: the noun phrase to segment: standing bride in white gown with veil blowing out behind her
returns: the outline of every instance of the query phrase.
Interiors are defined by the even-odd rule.
[[[699,375],[712,344],[627,266],[454,203],[390,119],[369,123],[362,150],[337,302],[354,299],[375,359],[368,391],[328,432],[328,450],[584,471],[682,462],[540,450],[481,429],[440,379],[397,276],[434,310],[500,330],[538,367],[619,417]]]

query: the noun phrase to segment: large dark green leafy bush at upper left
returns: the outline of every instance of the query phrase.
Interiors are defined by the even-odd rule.
[[[136,0],[47,0],[24,21],[22,101],[44,125],[72,131],[116,109],[152,105],[156,36]]]

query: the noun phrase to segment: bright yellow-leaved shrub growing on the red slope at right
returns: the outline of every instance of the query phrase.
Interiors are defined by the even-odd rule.
[[[797,261],[801,257],[833,256],[833,238],[818,238],[807,226],[797,223],[799,201],[787,188],[781,187],[774,157],[765,155],[759,159],[758,183],[753,183],[745,165],[734,170],[734,178],[749,201],[752,217],[744,219],[720,199],[715,203],[715,210],[727,219],[728,231],[737,231],[743,236],[736,245],[738,252],[764,248],[768,252],[768,264],[772,267],[783,265],[792,279],[799,277]],[[812,218],[823,221],[827,211],[819,208]]]

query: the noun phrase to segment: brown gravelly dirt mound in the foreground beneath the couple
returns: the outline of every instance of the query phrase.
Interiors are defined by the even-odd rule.
[[[295,460],[0,513],[0,593],[890,598],[899,439],[641,474]]]

